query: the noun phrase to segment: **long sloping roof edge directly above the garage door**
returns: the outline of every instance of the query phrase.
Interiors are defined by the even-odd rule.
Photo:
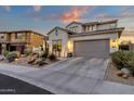
[[[81,34],[77,34],[77,35],[70,35],[70,37],[93,36],[93,35],[107,34],[107,33],[118,33],[119,38],[120,38],[123,30],[124,30],[124,27],[119,27],[119,28],[112,28],[112,29],[103,29],[103,30],[81,33]]]

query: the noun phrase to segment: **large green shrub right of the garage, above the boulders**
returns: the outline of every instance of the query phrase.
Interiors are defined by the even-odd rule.
[[[117,64],[118,68],[128,67],[134,71],[134,52],[133,51],[117,51],[111,53],[112,62]]]

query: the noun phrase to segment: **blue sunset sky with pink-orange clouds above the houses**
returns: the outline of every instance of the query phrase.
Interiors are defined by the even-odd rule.
[[[124,35],[134,35],[133,5],[4,5],[0,7],[0,30],[31,29],[46,34],[70,22],[119,20]]]

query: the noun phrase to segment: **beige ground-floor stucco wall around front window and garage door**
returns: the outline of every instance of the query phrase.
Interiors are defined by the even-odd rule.
[[[53,40],[62,40],[62,56],[67,56],[68,52],[73,52],[73,41],[77,40],[95,40],[95,39],[109,39],[109,49],[110,52],[115,52],[119,50],[119,41],[118,41],[118,33],[115,34],[100,34],[100,35],[92,35],[92,36],[77,36],[71,37],[57,28],[58,36],[55,35],[55,30],[49,34],[49,51],[52,53],[52,41]],[[116,47],[113,48],[113,41],[116,42]]]

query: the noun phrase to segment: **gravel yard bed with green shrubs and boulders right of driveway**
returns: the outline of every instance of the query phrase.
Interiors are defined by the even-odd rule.
[[[105,79],[134,86],[134,52],[120,50],[111,53]]]

